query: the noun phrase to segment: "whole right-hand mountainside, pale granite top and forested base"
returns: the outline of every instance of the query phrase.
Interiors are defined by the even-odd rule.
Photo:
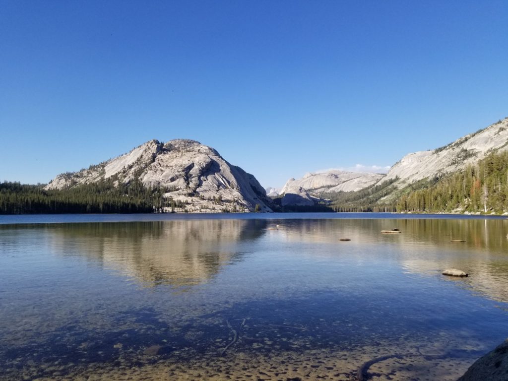
[[[405,155],[374,185],[329,196],[336,211],[508,212],[508,118]]]

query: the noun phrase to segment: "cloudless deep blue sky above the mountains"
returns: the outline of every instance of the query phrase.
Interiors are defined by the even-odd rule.
[[[264,186],[390,166],[508,116],[507,1],[0,0],[0,180],[150,139]]]

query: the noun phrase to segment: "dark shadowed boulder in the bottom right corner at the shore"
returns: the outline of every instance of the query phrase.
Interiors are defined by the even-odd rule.
[[[508,379],[508,339],[474,362],[457,381],[506,381]]]

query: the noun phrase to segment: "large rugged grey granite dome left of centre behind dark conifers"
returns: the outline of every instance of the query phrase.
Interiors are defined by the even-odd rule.
[[[60,174],[45,189],[105,181],[162,189],[173,209],[179,205],[189,212],[253,211],[257,205],[259,211],[272,211],[271,200],[254,176],[229,164],[215,149],[185,139],[151,140],[88,169]]]

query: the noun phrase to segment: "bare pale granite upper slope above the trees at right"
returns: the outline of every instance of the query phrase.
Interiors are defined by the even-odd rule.
[[[405,155],[383,179],[399,178],[402,187],[413,181],[459,171],[495,150],[508,149],[508,118],[466,135],[444,147]]]

